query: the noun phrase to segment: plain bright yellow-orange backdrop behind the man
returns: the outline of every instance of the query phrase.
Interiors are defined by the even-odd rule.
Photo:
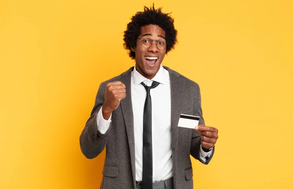
[[[134,65],[132,15],[152,1],[0,1],[0,189],[98,189],[105,153],[79,135],[99,84]],[[292,188],[293,6],[289,0],[157,0],[179,43],[163,65],[199,83],[219,129],[195,189]]]

